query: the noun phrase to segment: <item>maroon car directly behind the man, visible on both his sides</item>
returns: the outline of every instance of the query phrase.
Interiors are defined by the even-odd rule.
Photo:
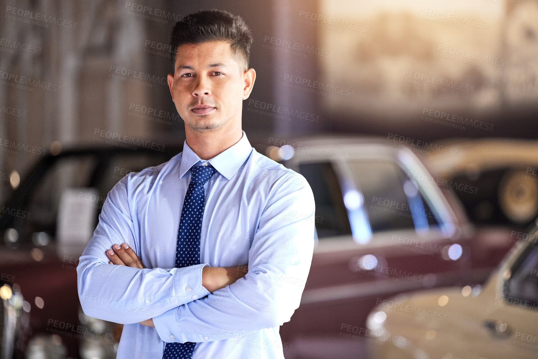
[[[287,358],[357,357],[364,341],[339,333],[365,328],[379,298],[483,283],[515,241],[509,228],[476,230],[451,192],[423,180],[428,170],[406,147],[362,137],[251,143],[303,174],[316,201],[312,269],[301,306],[280,331]],[[78,258],[116,182],[180,151],[62,151],[24,176],[4,203],[14,214],[0,218],[0,272],[14,278],[29,309],[18,357],[115,357],[122,326],[81,312]]]

